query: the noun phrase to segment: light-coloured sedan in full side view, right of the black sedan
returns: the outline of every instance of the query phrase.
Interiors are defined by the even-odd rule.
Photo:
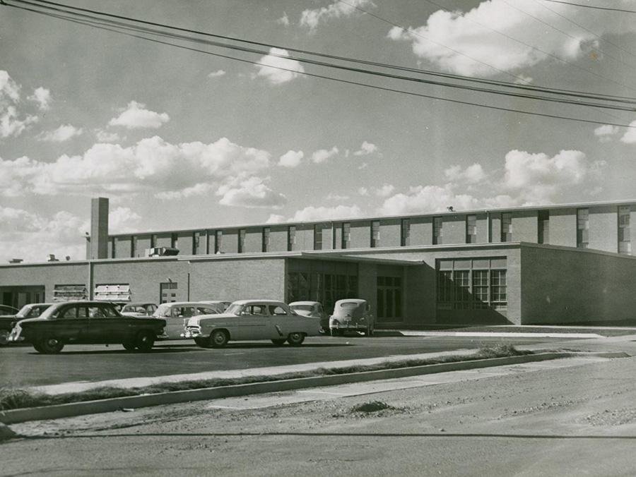
[[[282,301],[239,300],[220,315],[200,315],[187,322],[185,336],[203,348],[225,346],[230,340],[271,339],[281,346],[300,346],[319,333],[315,318],[297,315]]]

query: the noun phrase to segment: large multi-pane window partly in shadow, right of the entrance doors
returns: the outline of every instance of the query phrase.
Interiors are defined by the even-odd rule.
[[[506,258],[437,260],[437,309],[507,309]]]

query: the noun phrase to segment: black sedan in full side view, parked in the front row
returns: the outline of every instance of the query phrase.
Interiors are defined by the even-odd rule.
[[[121,315],[104,301],[66,301],[49,306],[38,318],[20,320],[9,342],[28,342],[36,351],[59,353],[66,344],[114,344],[150,351],[163,334],[165,320]]]

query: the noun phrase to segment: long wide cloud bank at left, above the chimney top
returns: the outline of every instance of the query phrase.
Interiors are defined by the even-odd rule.
[[[0,159],[0,195],[152,193],[158,198],[185,197],[223,186],[241,189],[236,184],[258,176],[270,162],[269,152],[243,147],[227,138],[209,144],[171,144],[155,136],[130,147],[98,143],[83,155],[62,155],[54,162],[28,157]],[[234,195],[245,197],[245,192],[226,188],[225,195],[227,202]],[[253,206],[262,200],[269,206],[276,203],[273,196],[264,186],[257,186],[245,202]]]

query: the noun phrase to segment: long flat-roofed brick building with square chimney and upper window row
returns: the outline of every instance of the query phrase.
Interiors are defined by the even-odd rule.
[[[634,318],[636,202],[109,235],[87,259],[0,266],[3,303],[365,298],[386,327]],[[178,249],[175,256],[155,250]]]

